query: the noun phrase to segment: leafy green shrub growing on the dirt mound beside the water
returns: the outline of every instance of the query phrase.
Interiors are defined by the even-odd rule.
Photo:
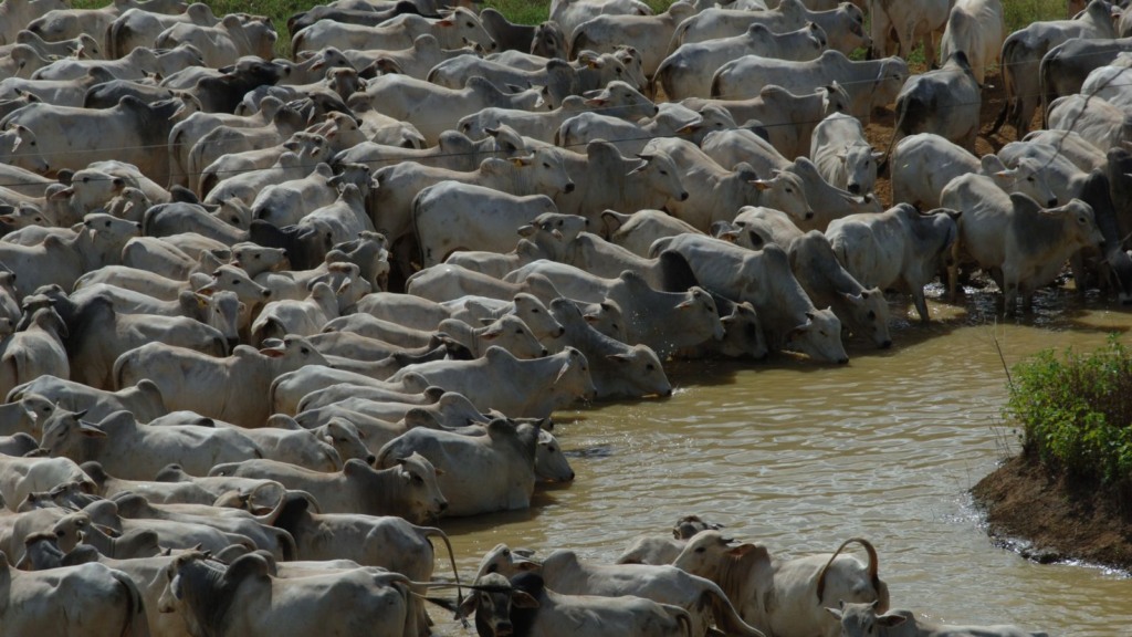
[[[1013,370],[1006,413],[1023,450],[1106,486],[1132,484],[1132,351],[1109,339],[1091,354],[1046,350]]]

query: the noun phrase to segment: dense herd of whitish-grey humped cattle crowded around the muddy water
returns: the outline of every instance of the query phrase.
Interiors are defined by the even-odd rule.
[[[0,636],[418,637],[461,580],[480,636],[1037,635],[890,610],[864,538],[689,516],[461,579],[421,525],[574,479],[551,414],[672,358],[847,363],[976,271],[1005,313],[1066,262],[1132,300],[1132,11],[1067,11],[337,0],[273,59],[204,3],[3,0]]]

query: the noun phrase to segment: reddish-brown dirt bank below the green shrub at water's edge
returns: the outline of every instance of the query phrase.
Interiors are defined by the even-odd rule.
[[[1132,507],[1114,506],[1094,485],[1050,475],[1036,460],[1011,458],[971,490],[987,533],[1038,562],[1084,560],[1132,569]]]

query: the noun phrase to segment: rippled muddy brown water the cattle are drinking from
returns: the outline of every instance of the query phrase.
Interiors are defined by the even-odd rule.
[[[1113,332],[1127,341],[1132,311],[1067,291],[1006,321],[981,294],[933,304],[941,321],[927,326],[892,308],[893,348],[854,343],[848,366],[680,363],[670,399],[556,414],[577,481],[540,490],[529,511],[444,520],[462,577],[499,542],[612,561],[637,535],[696,513],[777,555],[866,537],[893,605],[937,621],[1132,635],[1132,578],[995,546],[968,495],[1019,447],[1002,421],[997,348],[1013,365],[1050,347],[1091,350]],[[449,570],[438,560],[437,576]],[[432,614],[439,634],[474,635]]]

